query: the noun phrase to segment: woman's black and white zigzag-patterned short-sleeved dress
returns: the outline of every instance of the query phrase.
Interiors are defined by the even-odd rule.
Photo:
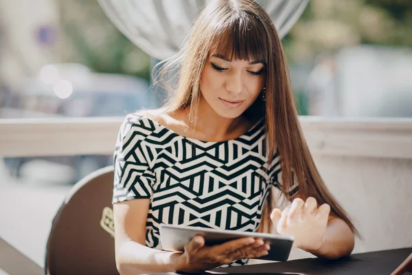
[[[161,249],[160,223],[255,231],[269,183],[279,187],[279,157],[268,166],[265,144],[264,122],[234,140],[202,142],[130,114],[115,148],[113,203],[150,199],[150,248]]]

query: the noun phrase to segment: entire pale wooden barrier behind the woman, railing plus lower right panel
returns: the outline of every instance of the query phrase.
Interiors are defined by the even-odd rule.
[[[354,252],[410,247],[412,119],[300,120],[325,184],[365,238],[356,241]],[[122,121],[123,118],[3,119],[0,157],[112,155]],[[377,228],[382,221],[387,226]],[[293,250],[290,259],[309,256]]]

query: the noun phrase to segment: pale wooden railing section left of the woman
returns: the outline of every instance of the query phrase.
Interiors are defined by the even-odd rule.
[[[123,118],[0,120],[0,155],[111,155]]]

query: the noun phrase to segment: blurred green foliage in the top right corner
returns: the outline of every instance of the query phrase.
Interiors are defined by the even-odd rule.
[[[412,1],[310,0],[284,39],[295,62],[359,44],[412,47]]]

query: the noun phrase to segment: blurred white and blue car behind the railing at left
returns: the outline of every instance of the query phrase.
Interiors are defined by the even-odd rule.
[[[22,114],[19,118],[33,118],[33,113],[37,114],[35,118],[115,117],[141,108],[157,108],[161,103],[147,80],[94,73],[78,64],[47,65],[38,76],[23,80],[16,95],[18,100],[14,101],[18,103],[13,109]],[[73,184],[93,170],[113,164],[113,157],[9,157],[4,162],[17,178]]]

